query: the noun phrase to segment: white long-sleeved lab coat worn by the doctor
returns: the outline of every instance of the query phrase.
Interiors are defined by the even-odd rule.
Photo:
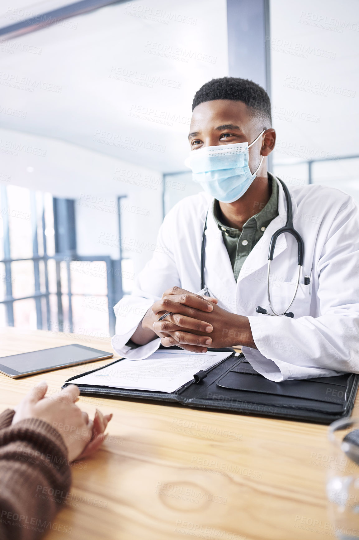
[[[248,362],[272,381],[359,373],[359,217],[354,200],[319,185],[291,191],[294,228],[304,241],[300,285],[291,307],[294,319],[256,313],[267,300],[268,248],[272,234],[286,223],[286,201],[279,184],[279,215],[268,225],[234,279],[229,255],[211,211],[213,199],[202,192],[179,201],[166,215],[153,258],[135,280],[132,295],[115,306],[115,351],[143,359],[160,345],[155,339],[137,349],[125,344],[147,309],[177,285],[191,292],[201,288],[201,240],[205,214],[205,284],[219,305],[246,315],[258,350],[243,347]],[[272,262],[273,306],[283,311],[291,301],[298,273],[294,238],[278,238]],[[304,277],[310,276],[309,285]],[[311,293],[311,294],[310,294]],[[240,338],[233,336],[233,345]]]

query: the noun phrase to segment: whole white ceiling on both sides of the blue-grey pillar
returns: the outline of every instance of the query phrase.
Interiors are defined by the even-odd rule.
[[[274,163],[358,152],[358,29],[357,0],[271,0]],[[194,93],[228,74],[226,2],[107,6],[2,44],[0,63],[0,105],[26,113],[0,109],[4,130],[181,171]]]

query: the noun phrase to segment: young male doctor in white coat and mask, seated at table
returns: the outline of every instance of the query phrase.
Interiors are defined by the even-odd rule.
[[[272,381],[358,373],[353,199],[319,185],[289,193],[267,172],[271,103],[250,80],[211,80],[192,110],[187,164],[203,192],[164,218],[156,253],[115,306],[114,349],[144,359],[160,343],[197,353],[240,344]],[[196,294],[204,284],[210,297]]]

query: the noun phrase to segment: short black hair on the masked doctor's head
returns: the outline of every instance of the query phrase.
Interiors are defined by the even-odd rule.
[[[263,117],[272,125],[271,100],[267,92],[253,83],[249,79],[240,79],[239,77],[222,77],[222,79],[212,79],[205,83],[196,92],[192,111],[200,103],[212,101],[213,99],[232,99],[241,101],[250,108],[253,116]]]

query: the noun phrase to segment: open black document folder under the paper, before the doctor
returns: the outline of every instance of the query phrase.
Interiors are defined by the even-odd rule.
[[[108,366],[116,362],[121,360],[115,360]],[[99,369],[103,367],[87,372],[86,375]],[[243,354],[235,356],[230,350],[225,360],[206,372],[194,374],[194,380],[171,394],[89,386],[77,382],[83,375],[85,373],[71,377],[63,388],[68,384],[77,384],[81,395],[178,403],[186,407],[321,424],[349,416],[358,387],[358,375],[354,373],[295,381],[269,381],[252,368]]]

